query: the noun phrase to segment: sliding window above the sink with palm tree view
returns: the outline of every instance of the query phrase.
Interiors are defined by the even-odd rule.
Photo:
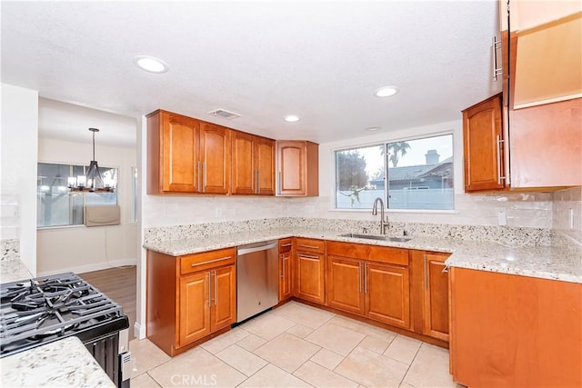
[[[336,209],[452,210],[453,134],[337,150]]]

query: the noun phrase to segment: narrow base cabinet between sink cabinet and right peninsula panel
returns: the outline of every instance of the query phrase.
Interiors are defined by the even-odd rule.
[[[448,342],[448,273],[450,254],[410,251],[413,327],[416,333]]]

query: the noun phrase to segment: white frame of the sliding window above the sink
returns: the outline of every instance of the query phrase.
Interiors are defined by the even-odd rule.
[[[332,170],[334,171],[334,174],[330,174],[332,175],[332,181],[331,181],[331,188],[330,188],[330,192],[331,192],[331,208],[329,209],[330,211],[333,212],[356,212],[356,213],[367,213],[371,210],[368,208],[339,208],[337,207],[337,194],[336,194],[336,184],[337,184],[337,158],[336,158],[336,153],[338,151],[351,151],[351,150],[357,150],[357,149],[361,149],[361,148],[366,148],[366,147],[373,147],[373,146],[383,146],[384,150],[385,150],[385,154],[384,154],[384,168],[385,168],[385,174],[387,176],[388,174],[388,155],[387,155],[387,144],[390,143],[396,143],[396,142],[409,142],[409,141],[414,141],[414,140],[420,140],[420,139],[426,139],[426,138],[430,138],[430,137],[438,137],[438,136],[445,136],[445,135],[451,135],[451,149],[452,149],[452,167],[453,167],[453,185],[452,185],[452,190],[453,190],[453,198],[452,198],[452,208],[451,209],[393,209],[393,208],[388,208],[388,182],[387,179],[384,180],[384,196],[382,197],[382,201],[384,202],[384,210],[388,213],[411,213],[411,214],[458,214],[457,211],[457,201],[456,201],[456,194],[457,194],[457,166],[456,166],[456,160],[457,160],[457,147],[455,146],[455,141],[456,141],[456,131],[454,129],[449,129],[449,130],[445,130],[445,131],[438,131],[438,132],[433,132],[433,133],[426,133],[426,134],[415,134],[415,135],[411,135],[411,136],[398,136],[395,138],[388,138],[388,139],[383,139],[383,140],[378,140],[376,142],[370,142],[370,143],[363,143],[363,144],[350,144],[347,145],[345,147],[336,147],[336,148],[332,148],[331,150],[331,159],[332,159]]]

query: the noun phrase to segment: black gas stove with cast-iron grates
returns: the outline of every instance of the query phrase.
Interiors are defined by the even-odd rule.
[[[114,383],[128,386],[125,365],[112,359],[128,358],[129,321],[105,293],[66,273],[0,284],[0,298],[0,357],[75,335]]]

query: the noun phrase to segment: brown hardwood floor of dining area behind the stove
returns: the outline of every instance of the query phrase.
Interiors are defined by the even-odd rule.
[[[121,304],[129,318],[129,338],[134,337],[135,323],[135,265],[109,268],[102,271],[79,274],[88,284],[98,288],[116,303]]]

